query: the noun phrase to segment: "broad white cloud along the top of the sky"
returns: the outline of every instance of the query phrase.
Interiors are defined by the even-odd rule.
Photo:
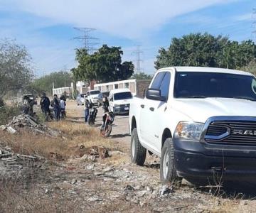
[[[225,3],[234,1],[227,0]],[[142,38],[169,19],[223,0],[9,0],[12,9],[50,18],[58,23],[97,28],[126,38]],[[4,4],[6,7],[6,4]],[[3,7],[3,6],[2,6]]]

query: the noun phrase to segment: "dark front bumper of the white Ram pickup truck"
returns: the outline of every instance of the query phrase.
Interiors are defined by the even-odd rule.
[[[209,149],[201,142],[174,138],[176,170],[184,178],[255,180],[255,151]]]

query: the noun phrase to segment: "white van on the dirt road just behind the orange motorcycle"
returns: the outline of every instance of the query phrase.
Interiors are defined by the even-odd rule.
[[[129,89],[112,89],[110,91],[110,110],[114,114],[129,114],[132,92]]]

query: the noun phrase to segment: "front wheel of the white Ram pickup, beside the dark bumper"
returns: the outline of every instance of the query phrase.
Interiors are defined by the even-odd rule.
[[[174,143],[172,138],[167,138],[161,150],[160,179],[163,183],[181,182],[175,168]]]

